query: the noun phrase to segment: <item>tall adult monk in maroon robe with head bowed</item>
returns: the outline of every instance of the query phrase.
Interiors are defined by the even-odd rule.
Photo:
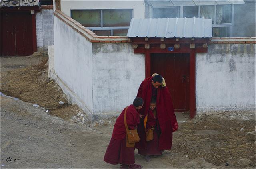
[[[138,153],[145,155],[146,158],[144,157],[144,159],[150,161],[148,155],[162,155],[163,150],[171,149],[172,132],[178,130],[178,123],[174,114],[169,89],[165,85],[165,82],[163,83],[161,75],[154,74],[154,76],[142,81],[137,97],[141,97],[144,100],[144,106],[139,110],[140,115],[144,117],[148,114],[151,99],[156,100],[157,120],[154,127],[154,139],[152,141],[146,141],[144,119],[142,119],[138,125],[140,141],[135,145]],[[147,146],[147,144],[150,146]]]

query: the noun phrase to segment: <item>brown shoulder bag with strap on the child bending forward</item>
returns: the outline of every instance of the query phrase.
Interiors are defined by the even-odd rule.
[[[140,137],[138,135],[137,129],[129,130],[127,122],[126,122],[126,107],[124,111],[124,125],[126,128],[126,147],[134,147],[136,142],[140,141]]]

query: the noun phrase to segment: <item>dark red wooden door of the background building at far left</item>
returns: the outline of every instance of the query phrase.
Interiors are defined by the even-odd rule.
[[[4,56],[33,54],[32,16],[28,12],[1,13],[1,47]]]

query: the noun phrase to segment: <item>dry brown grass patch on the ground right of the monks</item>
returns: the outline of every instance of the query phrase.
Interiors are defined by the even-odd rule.
[[[243,167],[255,167],[255,135],[250,137],[247,134],[255,130],[255,121],[239,122],[242,126],[237,122],[208,117],[196,123],[189,121],[181,124],[179,131],[182,134],[174,137],[172,151],[188,155],[191,159],[204,158],[217,166],[227,162],[237,165],[239,159],[245,158],[250,159],[252,164]],[[240,131],[243,126],[246,127]],[[213,130],[217,133],[211,134]]]

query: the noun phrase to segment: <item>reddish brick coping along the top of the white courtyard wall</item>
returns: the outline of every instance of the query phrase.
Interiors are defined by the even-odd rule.
[[[44,8],[45,9],[45,8]],[[79,22],[67,16],[60,10],[55,10],[54,15],[80,33],[92,43],[130,43],[127,36],[98,36],[90,29],[82,26]],[[256,37],[212,37],[208,44],[238,44],[256,43]]]

